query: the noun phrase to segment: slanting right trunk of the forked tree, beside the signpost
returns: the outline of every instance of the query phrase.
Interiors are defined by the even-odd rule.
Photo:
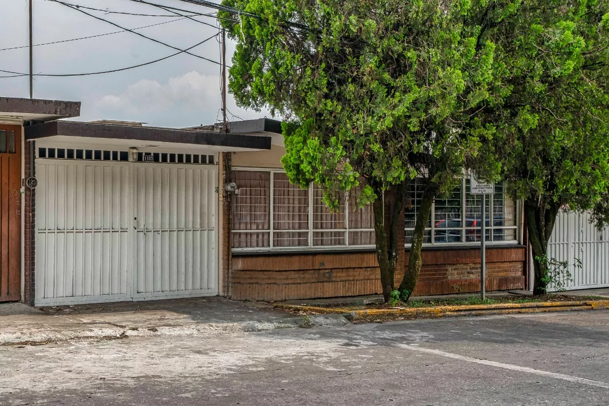
[[[412,244],[410,244],[408,268],[406,269],[406,273],[404,273],[404,278],[402,279],[399,288],[400,296],[404,297],[406,300],[410,298],[410,295],[412,295],[412,292],[415,290],[418,276],[421,271],[421,265],[423,265],[421,247],[423,247],[425,226],[427,225],[433,203],[434,194],[429,190],[423,192],[423,198],[421,199],[421,206],[417,213],[417,220],[412,236]]]

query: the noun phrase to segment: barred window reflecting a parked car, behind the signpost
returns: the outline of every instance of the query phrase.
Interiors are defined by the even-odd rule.
[[[480,243],[482,195],[473,195],[469,191],[470,179],[463,178],[447,197],[434,200],[424,232],[424,244]],[[412,181],[404,209],[406,245],[412,243],[422,197],[421,182]],[[491,199],[492,203],[489,201]],[[495,184],[491,199],[487,197],[486,203],[486,240],[491,243],[517,243],[518,205],[505,194],[501,183]]]

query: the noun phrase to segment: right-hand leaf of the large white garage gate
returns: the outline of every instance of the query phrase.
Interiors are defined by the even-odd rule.
[[[135,170],[135,298],[217,294],[216,167]]]

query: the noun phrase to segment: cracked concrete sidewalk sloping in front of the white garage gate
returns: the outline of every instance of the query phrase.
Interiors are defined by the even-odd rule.
[[[217,296],[35,309],[0,304],[0,345],[160,335],[212,335],[299,326],[343,325],[340,316],[294,317],[266,304]]]

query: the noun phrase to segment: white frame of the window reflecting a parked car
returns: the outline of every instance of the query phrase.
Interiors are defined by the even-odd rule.
[[[467,189],[467,185],[466,185],[466,181],[468,180],[468,176],[463,175],[462,179],[461,179],[461,209],[462,209],[462,225],[458,228],[454,228],[454,229],[459,229],[459,231],[461,232],[461,241],[460,242],[435,242],[435,201],[437,199],[434,199],[432,205],[431,205],[431,213],[430,213],[430,217],[431,217],[431,225],[430,227],[426,227],[424,232],[430,231],[430,240],[431,242],[423,242],[423,247],[480,247],[481,242],[480,241],[472,241],[472,242],[468,242],[466,240],[466,232],[468,230],[479,230],[480,227],[468,227],[466,224],[466,201],[467,201],[467,195],[468,195],[468,189]],[[496,186],[496,185],[495,185]],[[503,195],[504,195],[504,206],[505,206],[505,184],[502,184],[502,187],[504,188],[503,190]],[[471,195],[471,194],[470,194]],[[482,195],[474,195],[474,196],[482,196]],[[486,231],[487,233],[489,233],[490,236],[490,240],[487,240],[486,243],[487,245],[515,245],[515,244],[521,244],[523,241],[523,211],[522,211],[522,202],[520,200],[514,200],[514,208],[515,208],[515,225],[513,226],[495,226],[493,225],[493,219],[494,219],[494,214],[493,211],[495,209],[495,204],[494,204],[494,196],[490,195],[490,198],[488,198],[489,195],[485,195],[486,201],[485,201],[485,209],[487,210],[487,215],[488,215],[488,219],[489,219],[489,225],[486,226]],[[488,211],[490,209],[490,212]],[[453,228],[450,228],[453,229]],[[495,241],[493,240],[495,237],[495,230],[496,229],[514,229],[515,230],[515,239],[513,240],[504,240],[504,241]],[[409,248],[411,243],[406,242],[406,233],[407,231],[413,231],[414,228],[407,228],[406,226],[404,226],[404,246],[406,248]]]

